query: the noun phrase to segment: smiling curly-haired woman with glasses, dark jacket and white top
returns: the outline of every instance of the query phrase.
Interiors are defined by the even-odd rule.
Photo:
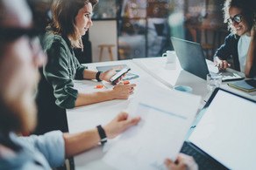
[[[214,55],[214,62],[220,69],[231,67],[245,73],[245,77],[256,77],[256,3],[254,0],[226,0],[224,23],[231,34]]]

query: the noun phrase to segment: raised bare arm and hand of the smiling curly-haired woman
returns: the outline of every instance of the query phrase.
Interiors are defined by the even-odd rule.
[[[256,35],[254,31],[254,27],[252,27],[251,31],[251,42],[249,45],[248,53],[246,56],[246,63],[245,63],[245,77],[250,78],[256,76],[256,65],[253,65],[255,63],[255,56],[256,56]],[[254,68],[252,68],[254,67]]]

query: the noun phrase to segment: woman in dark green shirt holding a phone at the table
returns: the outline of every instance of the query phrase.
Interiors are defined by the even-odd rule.
[[[90,16],[96,3],[97,0],[53,0],[53,24],[47,29],[46,36],[42,40],[44,51],[48,56],[48,62],[42,71],[45,80],[43,78],[41,82],[45,81],[45,83],[39,84],[37,98],[39,126],[44,126],[46,123],[45,112],[53,112],[56,115],[58,107],[59,111],[61,108],[61,112],[64,112],[65,109],[74,108],[75,106],[89,105],[110,99],[128,99],[133,93],[135,84],[124,85],[120,83],[112,90],[103,92],[78,92],[74,88],[74,79],[109,81],[116,74],[116,70],[120,69],[120,67],[117,67],[105,72],[89,71],[75,58],[74,49],[83,48],[82,36],[92,25]],[[49,98],[49,95],[52,98]],[[56,121],[64,121],[60,120],[60,116],[56,116],[55,121],[53,114],[51,114],[52,124]],[[40,122],[42,123],[40,124]],[[54,127],[53,129],[56,128],[58,129],[59,127]],[[49,130],[53,129],[50,128]]]

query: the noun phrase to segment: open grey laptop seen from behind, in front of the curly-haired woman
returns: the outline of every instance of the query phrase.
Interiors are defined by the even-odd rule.
[[[185,71],[188,71],[203,79],[206,79],[206,75],[208,73],[221,75],[223,77],[223,81],[245,78],[244,76],[241,76],[236,72],[218,71],[218,69],[213,68],[213,66],[208,67],[201,44],[197,44],[177,37],[171,37],[171,39],[174,46],[174,51],[176,52],[182,69],[184,69]]]

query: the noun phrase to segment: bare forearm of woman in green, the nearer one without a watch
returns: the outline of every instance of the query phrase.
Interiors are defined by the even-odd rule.
[[[113,92],[112,90],[103,91],[103,92],[88,92],[88,93],[79,92],[78,97],[75,100],[75,106],[90,105],[90,104],[114,99],[112,92]]]

